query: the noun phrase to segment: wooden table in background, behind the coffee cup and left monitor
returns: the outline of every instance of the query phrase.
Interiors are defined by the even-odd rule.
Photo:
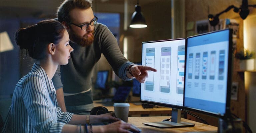
[[[99,100],[100,101],[100,100]],[[97,103],[98,101],[94,101],[93,104],[94,106],[104,106],[102,103]],[[129,115],[133,114],[171,114],[172,108],[168,107],[154,107],[154,108],[146,108],[144,109],[142,105],[135,105],[134,103],[129,103],[130,108],[129,108]],[[104,106],[106,107],[109,111],[114,111],[113,106]]]

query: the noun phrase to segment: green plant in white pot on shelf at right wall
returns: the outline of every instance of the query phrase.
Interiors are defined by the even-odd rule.
[[[237,52],[235,57],[240,60],[241,70],[254,70],[255,51],[249,51],[248,49],[245,49],[243,51]]]

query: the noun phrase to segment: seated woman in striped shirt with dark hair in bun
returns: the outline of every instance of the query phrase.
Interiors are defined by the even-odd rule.
[[[17,83],[3,132],[130,132],[136,127],[102,115],[75,115],[57,107],[56,90],[51,81],[58,65],[66,65],[73,48],[63,25],[45,20],[16,33],[20,49],[35,59],[32,70]],[[89,124],[116,121],[103,126]],[[83,125],[83,126],[81,126]]]

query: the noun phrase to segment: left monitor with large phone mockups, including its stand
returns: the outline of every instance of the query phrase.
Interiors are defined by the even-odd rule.
[[[140,102],[173,108],[171,121],[143,124],[159,128],[194,126],[180,121],[185,43],[185,38],[142,42],[142,65],[155,68],[157,72],[148,71],[146,82],[141,84]]]

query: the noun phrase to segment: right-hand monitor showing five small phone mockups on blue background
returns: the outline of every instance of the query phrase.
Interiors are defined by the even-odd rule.
[[[230,29],[187,38],[184,107],[223,116],[230,105]]]

